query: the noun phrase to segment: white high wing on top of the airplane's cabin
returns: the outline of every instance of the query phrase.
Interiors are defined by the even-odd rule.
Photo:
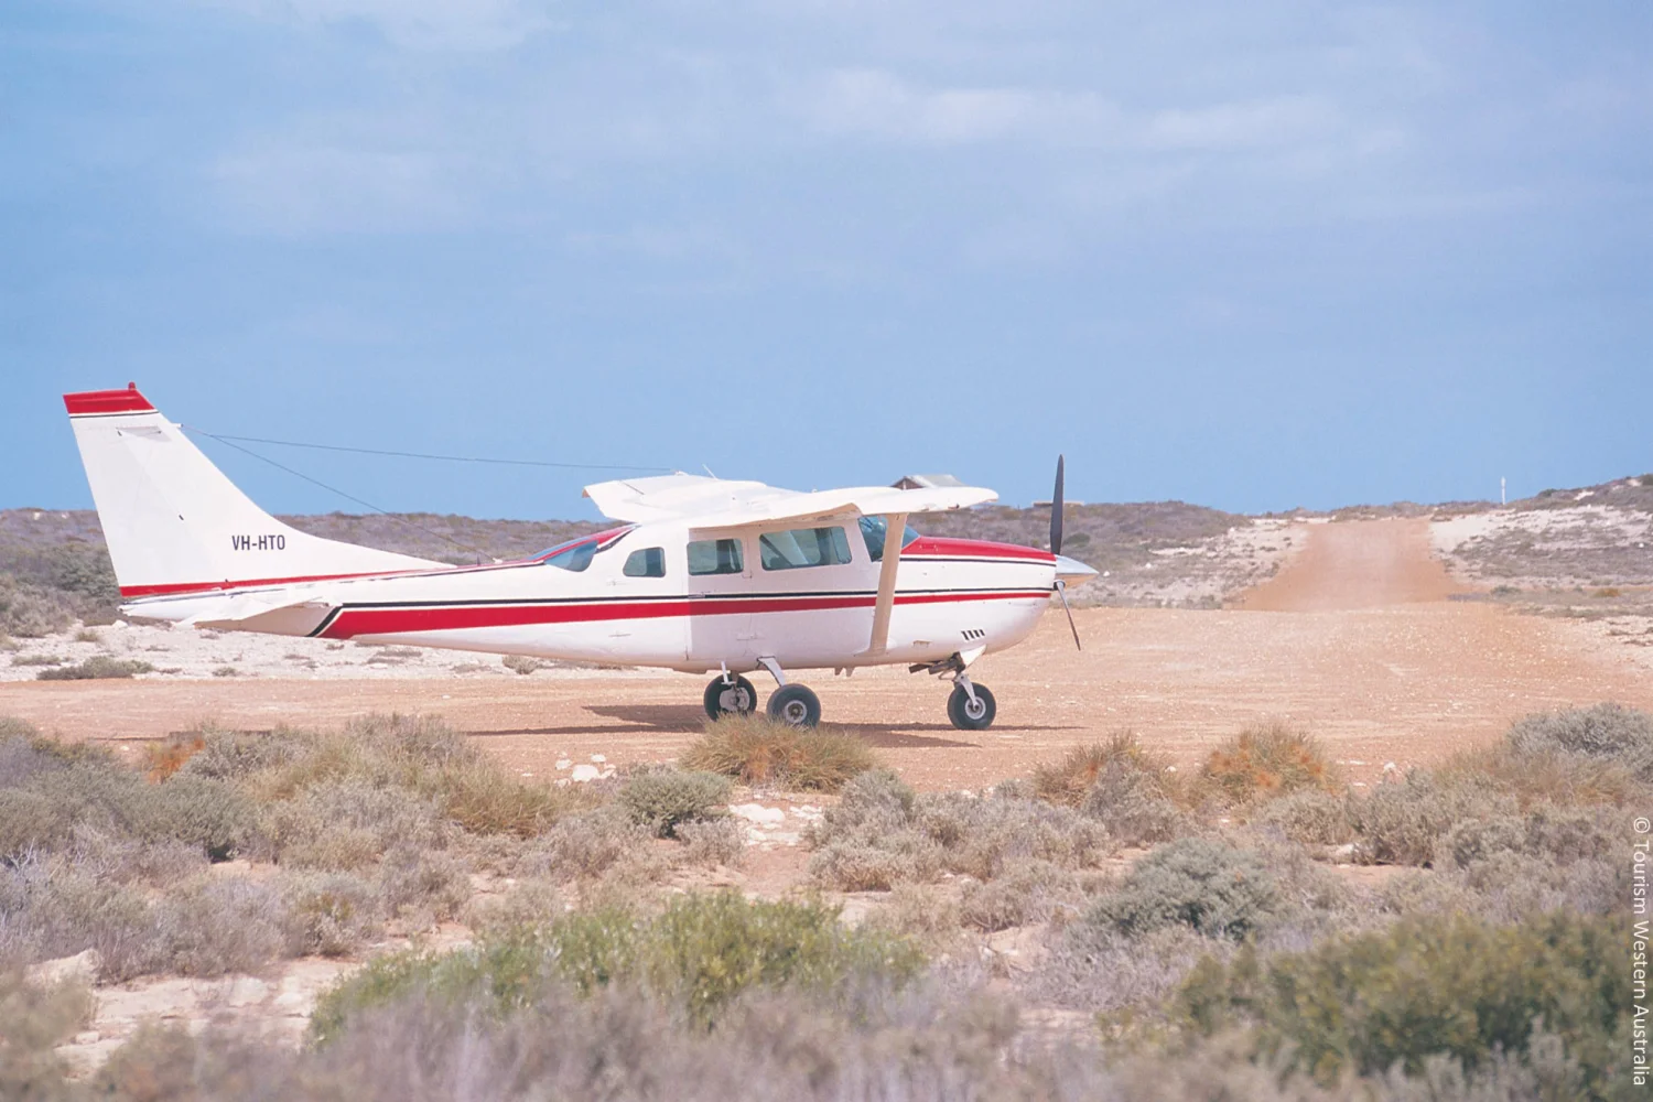
[[[764,482],[726,481],[703,474],[597,482],[585,487],[585,496],[605,517],[615,520],[633,524],[679,520],[691,529],[734,529],[770,520],[810,520],[845,514],[878,517],[946,512],[998,501],[998,494],[979,486],[936,489],[856,486],[805,494]]]

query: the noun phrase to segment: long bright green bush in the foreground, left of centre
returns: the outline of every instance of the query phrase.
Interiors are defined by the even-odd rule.
[[[349,1019],[413,991],[445,1000],[484,996],[499,1009],[529,1005],[547,981],[593,995],[641,985],[712,1023],[739,995],[762,988],[841,991],[878,980],[906,983],[922,957],[901,938],[851,930],[833,907],[746,900],[737,892],[679,895],[640,919],[577,912],[493,937],[446,957],[397,953],[370,962],[324,995],[311,1018],[319,1043]]]

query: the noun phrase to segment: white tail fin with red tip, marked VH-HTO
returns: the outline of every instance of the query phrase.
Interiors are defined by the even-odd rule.
[[[136,383],[64,395],[63,403],[127,600],[443,565],[281,524],[160,416]]]

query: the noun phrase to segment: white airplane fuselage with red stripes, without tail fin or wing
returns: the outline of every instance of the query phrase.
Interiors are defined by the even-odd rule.
[[[779,558],[765,553],[762,537],[797,529],[805,525],[707,534],[707,542],[737,542],[739,552],[722,562],[703,555],[701,573],[689,572],[689,544],[699,534],[661,522],[507,563],[136,587],[124,608],[271,634],[744,672],[759,659],[820,669],[1003,649],[1038,625],[1058,572],[1056,557],[1038,549],[921,535],[901,550],[888,644],[871,653],[881,563],[856,517],[813,519],[805,529],[841,529],[843,539],[831,542],[848,549],[848,562],[775,568]],[[587,545],[593,553],[579,570],[549,562],[579,563]],[[273,567],[273,555],[258,557]],[[658,577],[628,575],[628,563],[640,560]],[[704,572],[709,565],[719,572]],[[281,606],[260,613],[261,605]]]

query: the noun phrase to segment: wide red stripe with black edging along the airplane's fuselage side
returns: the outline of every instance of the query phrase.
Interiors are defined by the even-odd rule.
[[[941,601],[1007,601],[1043,598],[1041,590],[1007,590],[987,593],[909,593],[896,595],[896,605],[934,605]],[[681,598],[660,601],[590,601],[562,605],[443,605],[436,608],[345,608],[327,629],[324,639],[349,639],[359,634],[415,634],[420,631],[464,631],[471,628],[521,628],[529,625],[592,623],[600,620],[658,620],[666,616],[727,616],[752,613],[803,613],[841,608],[873,608],[874,598],[860,593],[845,596],[774,596],[774,598]]]

